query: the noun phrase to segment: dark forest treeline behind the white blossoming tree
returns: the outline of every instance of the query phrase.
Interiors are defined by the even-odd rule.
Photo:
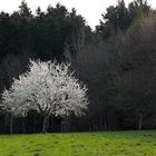
[[[0,92],[26,71],[29,58],[69,61],[88,86],[89,108],[68,123],[51,117],[49,131],[156,128],[156,13],[146,0],[107,8],[96,30],[66,7],[32,14],[26,1],[0,13]],[[14,133],[39,133],[42,117],[13,119]],[[12,118],[1,110],[0,131]]]

